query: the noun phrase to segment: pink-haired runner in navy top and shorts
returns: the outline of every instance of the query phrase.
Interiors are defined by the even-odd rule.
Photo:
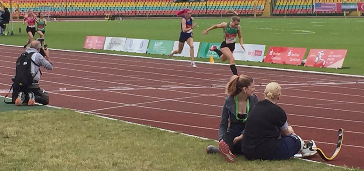
[[[192,38],[192,30],[196,26],[197,23],[193,23],[192,11],[190,9],[184,9],[182,11],[177,12],[177,16],[184,14],[181,20],[181,33],[179,36],[178,49],[172,51],[169,54],[169,58],[171,58],[176,53],[181,53],[183,50],[183,46],[185,42],[190,46],[190,56],[191,56],[191,66],[197,67],[194,61],[194,49],[193,49],[193,38]]]

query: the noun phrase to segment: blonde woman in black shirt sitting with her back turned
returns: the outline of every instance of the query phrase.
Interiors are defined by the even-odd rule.
[[[275,82],[269,83],[264,90],[264,100],[259,101],[250,112],[241,146],[246,159],[285,160],[298,151],[305,157],[317,153],[309,150],[316,146],[313,140],[305,144],[293,128],[288,126],[286,113],[277,106],[280,96],[281,86]],[[232,139],[229,136],[219,142],[219,148],[225,159],[233,162],[235,156],[229,150],[229,142],[225,142]]]

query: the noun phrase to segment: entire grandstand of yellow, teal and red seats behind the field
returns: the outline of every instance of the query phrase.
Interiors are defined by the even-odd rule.
[[[9,7],[10,0],[3,0]],[[13,0],[13,16],[24,16],[29,9],[44,11],[55,17],[85,16],[171,16],[176,10],[191,8],[194,15],[222,15],[234,9],[241,16],[342,14],[340,8],[332,11],[314,11],[314,3],[348,3],[356,5],[360,0],[207,0],[179,2],[173,0]],[[268,5],[266,5],[268,4]],[[268,8],[266,8],[268,7]],[[264,13],[264,10],[266,11]],[[19,13],[18,13],[19,12]],[[263,15],[266,14],[266,15]]]

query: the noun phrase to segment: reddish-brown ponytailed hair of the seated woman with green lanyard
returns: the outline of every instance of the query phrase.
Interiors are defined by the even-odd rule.
[[[225,93],[229,96],[236,96],[243,91],[244,87],[248,88],[253,81],[254,80],[247,75],[233,75],[230,78],[229,83],[226,84]]]

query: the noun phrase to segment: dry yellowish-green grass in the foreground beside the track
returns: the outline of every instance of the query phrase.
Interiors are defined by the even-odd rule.
[[[0,170],[292,170],[340,171],[299,159],[229,164],[207,155],[213,140],[70,110],[0,113]]]

